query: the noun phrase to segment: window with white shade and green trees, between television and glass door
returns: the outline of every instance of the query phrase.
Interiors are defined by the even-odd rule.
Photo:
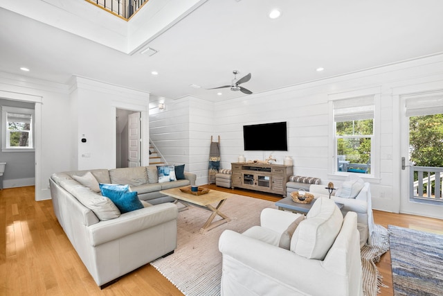
[[[372,174],[373,138],[373,96],[334,101],[336,172]]]

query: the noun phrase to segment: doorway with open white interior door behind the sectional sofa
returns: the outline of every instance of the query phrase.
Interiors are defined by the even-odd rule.
[[[141,112],[116,109],[116,168],[141,166]]]

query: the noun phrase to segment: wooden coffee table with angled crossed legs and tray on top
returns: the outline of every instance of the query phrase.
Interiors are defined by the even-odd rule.
[[[200,233],[204,233],[210,229],[213,229],[214,227],[230,221],[230,218],[228,218],[228,216],[221,213],[220,208],[223,206],[228,198],[232,198],[234,196],[234,194],[232,193],[210,190],[206,194],[193,195],[192,193],[185,193],[180,191],[180,188],[162,190],[160,191],[160,193],[175,198],[180,203],[185,204],[186,206],[192,205],[195,207],[201,207],[202,209],[206,209],[208,211],[212,211],[213,214],[209,216],[206,223],[203,225],[203,227],[201,227]],[[212,205],[215,202],[218,202],[216,207]],[[217,215],[220,216],[221,219],[213,222],[215,216]]]

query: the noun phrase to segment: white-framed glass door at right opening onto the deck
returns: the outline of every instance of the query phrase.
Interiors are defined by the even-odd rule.
[[[435,130],[442,125],[443,92],[401,96],[400,106],[400,213],[443,218],[443,134]]]

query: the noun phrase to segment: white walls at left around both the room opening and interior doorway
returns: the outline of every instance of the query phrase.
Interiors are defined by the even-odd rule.
[[[80,77],[63,85],[0,73],[0,96],[41,102],[35,105],[36,200],[51,198],[48,179],[53,173],[116,167],[116,108],[142,112],[144,137],[149,137],[145,92]],[[148,146],[142,146],[143,164],[149,162]],[[90,157],[82,157],[87,153]]]

